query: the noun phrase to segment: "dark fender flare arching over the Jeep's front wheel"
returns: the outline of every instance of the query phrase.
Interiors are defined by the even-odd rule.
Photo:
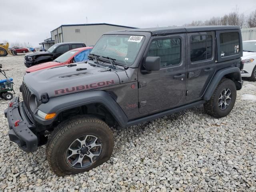
[[[117,102],[107,92],[102,90],[79,92],[51,98],[47,103],[40,104],[40,106],[38,106],[38,110],[47,114],[55,112],[57,117],[58,114],[64,110],[91,103],[103,104],[115,118],[119,126],[124,127],[127,124],[128,118],[122,108],[120,108]],[[34,115],[34,119],[43,125],[52,124],[55,118],[44,120],[39,117],[37,113]]]

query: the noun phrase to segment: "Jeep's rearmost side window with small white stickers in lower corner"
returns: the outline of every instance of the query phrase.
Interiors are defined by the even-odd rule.
[[[228,32],[220,34],[220,56],[235,55],[240,52],[238,32]]]

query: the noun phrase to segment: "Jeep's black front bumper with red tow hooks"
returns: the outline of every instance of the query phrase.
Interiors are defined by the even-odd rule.
[[[38,138],[31,131],[36,126],[28,118],[23,102],[19,102],[19,97],[14,97],[8,108],[4,110],[4,115],[8,119],[9,128],[8,135],[11,141],[26,151],[36,151],[38,147]]]

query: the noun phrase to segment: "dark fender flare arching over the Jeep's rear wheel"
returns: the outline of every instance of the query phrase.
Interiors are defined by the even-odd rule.
[[[218,86],[219,82],[222,80],[222,78],[226,75],[232,75],[234,78],[234,82],[236,84],[236,89],[240,90],[242,89],[242,77],[241,77],[241,71],[238,67],[229,67],[222,70],[219,70],[212,78],[210,84],[208,85],[206,92],[204,94],[204,100],[208,101],[212,97],[212,94],[216,87]]]

